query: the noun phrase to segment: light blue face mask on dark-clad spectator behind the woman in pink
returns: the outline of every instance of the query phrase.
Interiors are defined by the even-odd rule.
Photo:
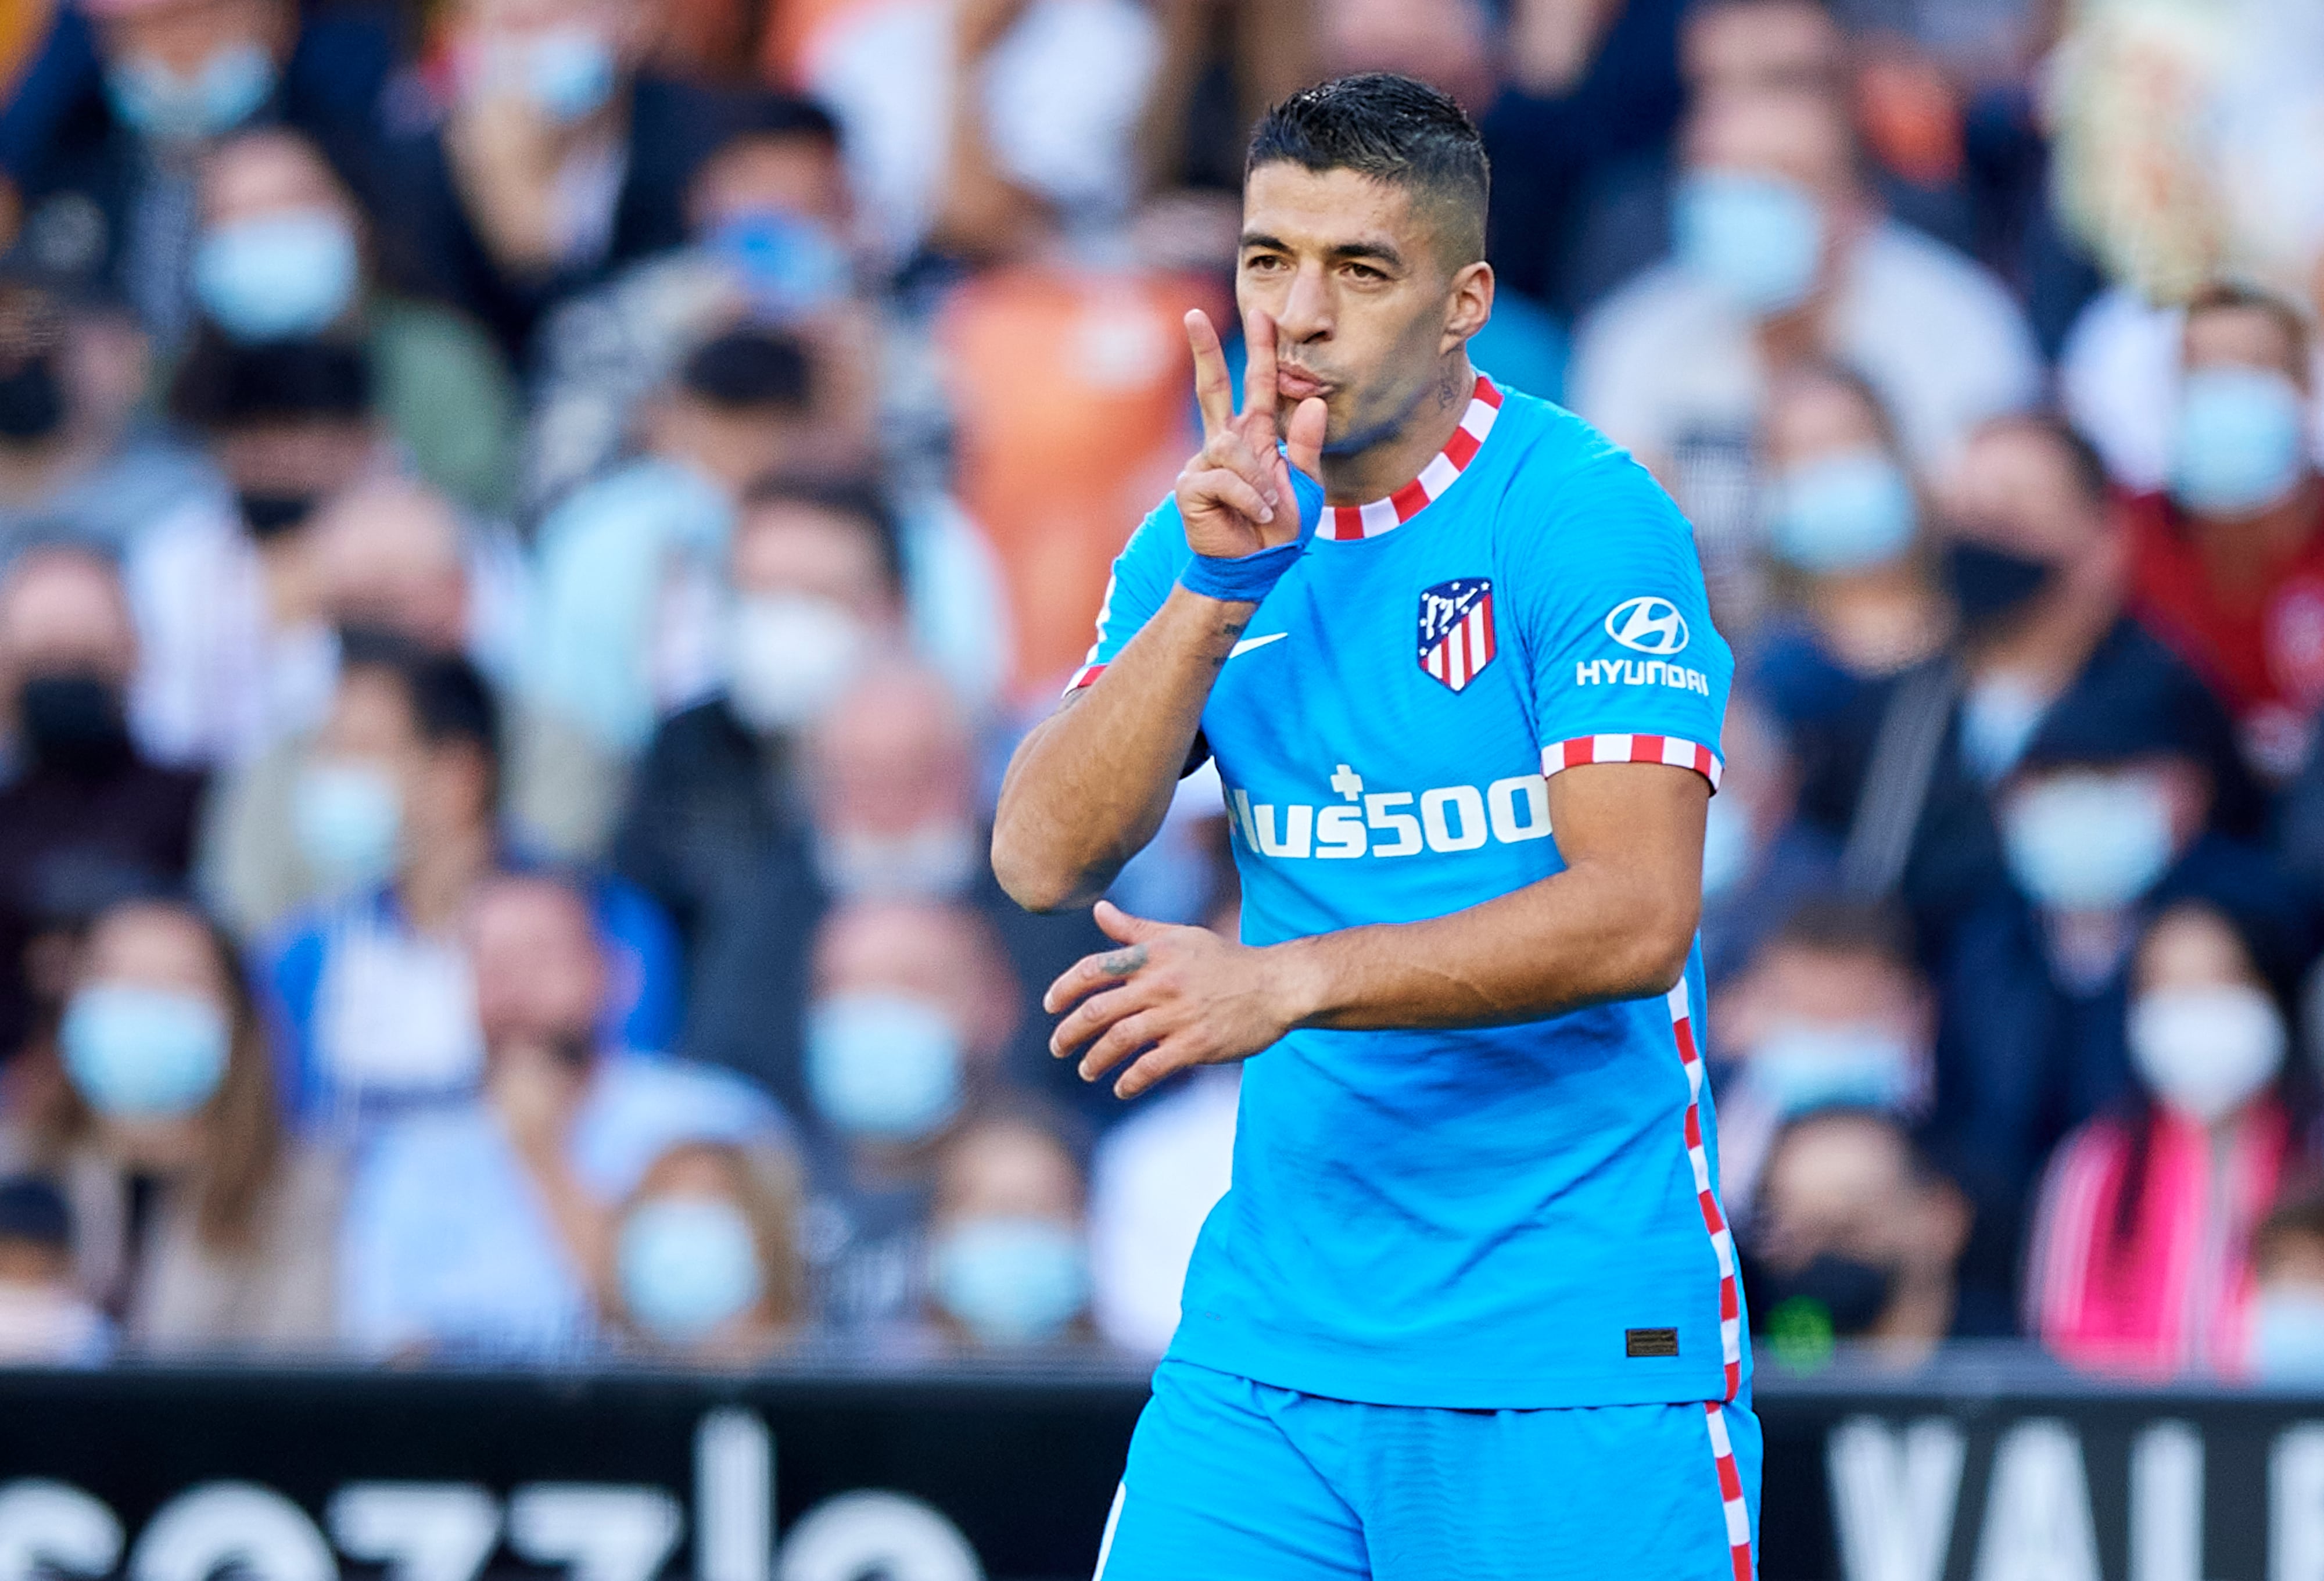
[[[2001,851],[2033,904],[2113,911],[2171,867],[2171,804],[2145,774],[2052,774],[2003,807]]]

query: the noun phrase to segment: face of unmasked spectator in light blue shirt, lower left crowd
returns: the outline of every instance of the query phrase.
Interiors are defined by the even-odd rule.
[[[546,879],[495,879],[469,914],[467,949],[486,1049],[593,1046],[607,967],[579,895]]]

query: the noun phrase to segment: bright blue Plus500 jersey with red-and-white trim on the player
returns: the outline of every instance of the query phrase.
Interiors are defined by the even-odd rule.
[[[1164,502],[1076,684],[1188,558]],[[1662,488],[1573,414],[1478,379],[1420,479],[1325,512],[1204,707],[1243,939],[1443,916],[1559,872],[1548,774],[1652,760],[1717,786],[1731,674]],[[1169,1355],[1371,1404],[1736,1400],[1701,981],[1697,953],[1666,997],[1301,1030],[1255,1056]]]

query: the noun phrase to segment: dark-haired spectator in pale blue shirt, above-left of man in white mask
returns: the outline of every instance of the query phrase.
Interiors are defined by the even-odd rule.
[[[655,721],[723,679],[709,632],[734,512],[753,484],[804,460],[809,374],[788,335],[709,342],[646,414],[646,453],[541,523],[518,807],[555,849],[602,844]]]

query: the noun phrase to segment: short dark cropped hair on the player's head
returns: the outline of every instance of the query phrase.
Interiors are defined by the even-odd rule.
[[[1455,265],[1485,256],[1492,165],[1476,123],[1450,93],[1397,72],[1357,72],[1301,88],[1250,133],[1243,179],[1260,165],[1353,170],[1401,186],[1443,216],[1443,256]]]

